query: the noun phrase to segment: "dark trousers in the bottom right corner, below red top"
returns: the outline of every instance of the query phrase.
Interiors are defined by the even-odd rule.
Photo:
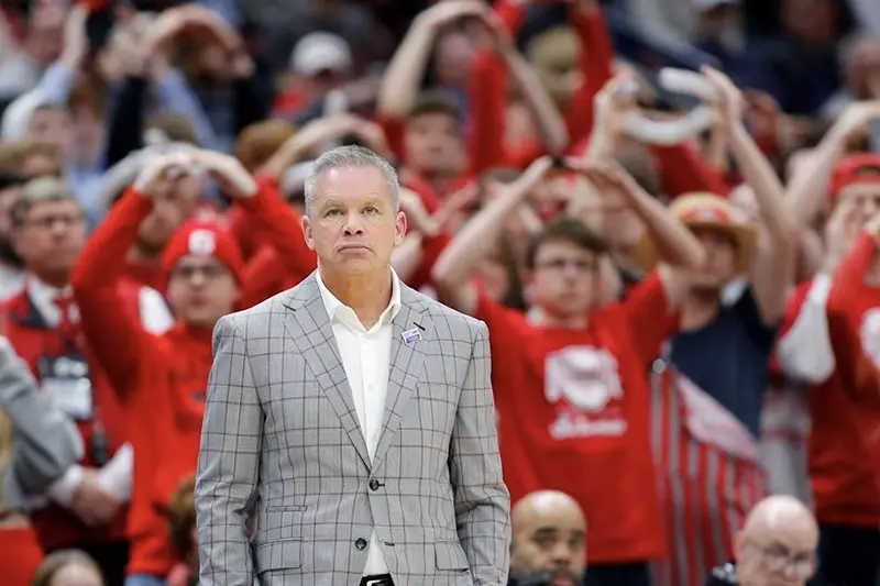
[[[823,524],[818,573],[828,586],[880,584],[880,530]]]

